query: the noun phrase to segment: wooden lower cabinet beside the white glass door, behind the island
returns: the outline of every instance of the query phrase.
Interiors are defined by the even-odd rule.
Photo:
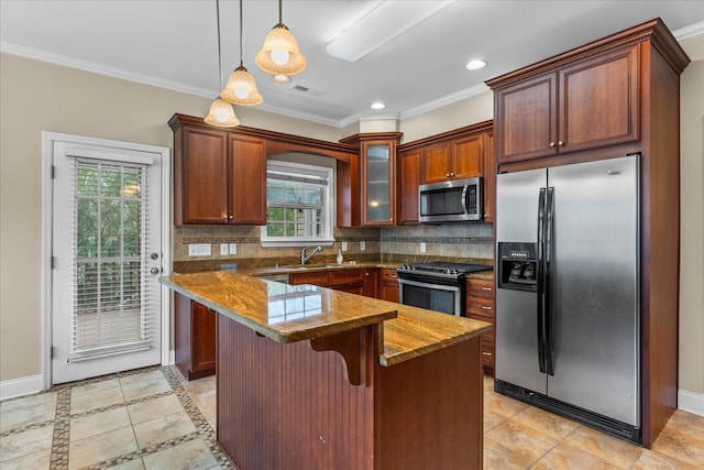
[[[176,367],[187,380],[216,373],[216,316],[210,308],[175,294]]]

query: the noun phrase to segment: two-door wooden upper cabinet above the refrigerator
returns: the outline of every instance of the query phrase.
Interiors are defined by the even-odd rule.
[[[638,44],[495,89],[498,163],[638,141]]]

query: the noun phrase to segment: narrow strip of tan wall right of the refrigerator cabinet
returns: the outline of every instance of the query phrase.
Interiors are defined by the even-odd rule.
[[[683,41],[681,77],[680,389],[704,394],[704,35]]]

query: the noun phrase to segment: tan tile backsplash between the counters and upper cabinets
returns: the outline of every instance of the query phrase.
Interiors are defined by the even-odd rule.
[[[321,256],[324,262],[334,260],[342,242],[348,243],[348,251],[342,254],[348,258],[360,255],[402,254],[474,258],[492,260],[493,239],[490,223],[457,223],[443,226],[392,227],[392,228],[336,228],[336,242],[331,247],[323,247]],[[365,250],[361,249],[364,242]],[[211,254],[208,256],[189,256],[188,244],[209,243]],[[237,243],[237,254],[220,254],[220,243]],[[426,252],[421,253],[420,243],[426,244]],[[173,260],[204,261],[271,258],[276,261],[296,260],[300,248],[262,247],[260,242],[260,227],[252,226],[179,226],[174,227]],[[290,261],[288,261],[290,262]]]

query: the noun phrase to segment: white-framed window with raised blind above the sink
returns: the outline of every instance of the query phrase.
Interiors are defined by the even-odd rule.
[[[262,244],[332,244],[332,168],[268,161]]]

